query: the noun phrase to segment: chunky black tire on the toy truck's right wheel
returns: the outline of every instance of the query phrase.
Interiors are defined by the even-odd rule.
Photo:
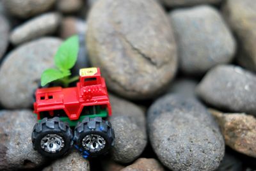
[[[92,137],[97,136],[98,138],[104,138],[104,147],[102,147],[102,149],[90,149],[86,146],[83,146],[83,144],[85,143],[83,139],[86,138],[87,135]],[[83,149],[83,151],[88,152],[89,157],[96,157],[101,154],[108,153],[110,147],[114,145],[114,139],[115,133],[111,127],[111,123],[102,120],[101,117],[86,117],[83,119],[82,123],[77,124],[74,130],[75,144],[79,147],[79,149]]]

